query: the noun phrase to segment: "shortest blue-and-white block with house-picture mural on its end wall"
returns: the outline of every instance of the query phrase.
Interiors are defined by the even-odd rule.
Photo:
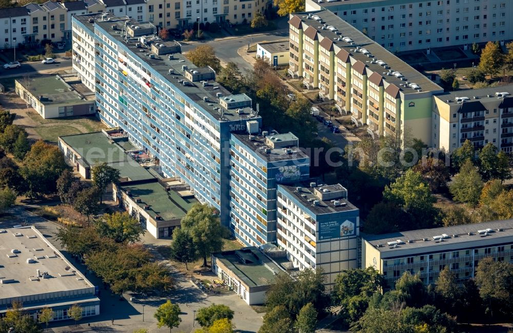
[[[359,209],[340,184],[278,185],[278,246],[294,267],[322,268],[331,290],[340,272],[359,267]]]

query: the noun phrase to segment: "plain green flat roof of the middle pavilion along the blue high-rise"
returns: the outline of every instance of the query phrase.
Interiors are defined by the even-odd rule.
[[[154,178],[148,170],[125,153],[119,142],[109,140],[103,132],[66,135],[60,138],[80,156],[78,163],[85,167],[106,162],[120,170],[122,178],[126,177],[131,181]],[[130,144],[129,147],[133,145]]]

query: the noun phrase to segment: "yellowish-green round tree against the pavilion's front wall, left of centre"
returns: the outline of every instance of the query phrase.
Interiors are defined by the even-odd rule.
[[[128,212],[104,214],[96,223],[101,236],[110,238],[116,243],[136,243],[145,233],[143,225],[132,218]]]

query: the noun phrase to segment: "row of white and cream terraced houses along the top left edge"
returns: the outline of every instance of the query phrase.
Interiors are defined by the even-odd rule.
[[[8,48],[28,47],[43,40],[71,42],[71,17],[110,12],[138,22],[151,22],[159,28],[185,29],[198,22],[249,23],[257,13],[267,13],[269,0],[78,0],[73,2],[31,3],[0,9],[0,41]]]

